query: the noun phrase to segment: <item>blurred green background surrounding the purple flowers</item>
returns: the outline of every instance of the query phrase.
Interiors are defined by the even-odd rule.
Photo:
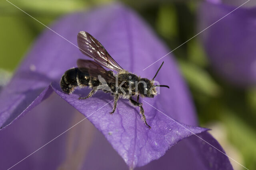
[[[87,10],[113,0],[11,0],[45,25],[63,14]],[[175,49],[199,31],[199,1],[123,0]],[[0,85],[6,84],[44,25],[6,0],[0,1]],[[227,154],[249,169],[256,169],[256,88],[238,89],[219,79],[211,70],[199,37],[173,52],[188,83],[200,126],[212,129]],[[242,166],[231,160],[234,169]]]

